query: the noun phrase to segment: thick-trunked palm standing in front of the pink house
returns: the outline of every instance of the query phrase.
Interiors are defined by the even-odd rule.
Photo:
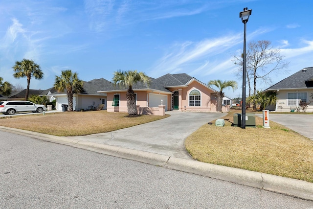
[[[127,99],[127,111],[129,116],[137,115],[135,93],[133,86],[138,83],[144,83],[149,85],[150,78],[144,72],[137,72],[137,70],[121,71],[118,70],[113,73],[112,81],[114,86],[119,85],[120,88],[126,88],[126,99]]]

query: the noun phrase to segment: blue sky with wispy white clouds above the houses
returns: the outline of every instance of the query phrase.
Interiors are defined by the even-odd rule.
[[[232,60],[243,51],[244,7],[252,9],[247,43],[271,41],[290,62],[271,84],[313,67],[313,0],[0,0],[0,77],[25,88],[12,66],[26,58],[45,73],[31,89],[52,87],[61,70],[84,81],[138,70],[153,78],[236,80],[238,90],[225,93],[240,97]],[[258,90],[268,87],[257,83]]]

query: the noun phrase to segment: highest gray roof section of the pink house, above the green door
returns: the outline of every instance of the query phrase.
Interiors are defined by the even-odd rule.
[[[167,73],[156,80],[163,84],[164,87],[172,87],[172,86],[184,86],[188,81],[190,81],[193,77],[186,73],[179,74],[170,74]]]

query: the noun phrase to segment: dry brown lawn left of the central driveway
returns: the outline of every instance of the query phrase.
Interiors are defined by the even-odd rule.
[[[110,132],[168,116],[129,117],[127,113],[108,113],[106,111],[60,112],[6,117],[0,119],[0,125],[55,136],[78,136]]]

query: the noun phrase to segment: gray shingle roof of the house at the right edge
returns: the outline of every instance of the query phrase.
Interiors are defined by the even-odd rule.
[[[277,89],[306,89],[313,88],[313,67],[305,68],[306,71],[299,70],[288,78],[272,85],[267,90]]]

